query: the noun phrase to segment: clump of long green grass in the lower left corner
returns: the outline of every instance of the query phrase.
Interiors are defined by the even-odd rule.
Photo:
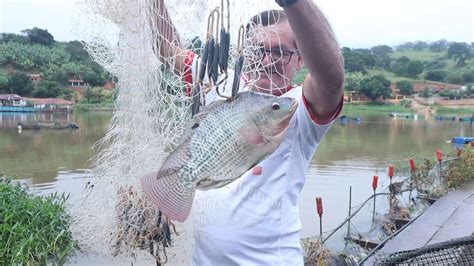
[[[25,185],[0,180],[0,264],[64,261],[77,247],[66,200],[57,193],[34,196]]]

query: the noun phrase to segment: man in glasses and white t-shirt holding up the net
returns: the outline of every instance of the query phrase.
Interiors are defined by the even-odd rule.
[[[244,75],[244,90],[300,101],[282,144],[241,178],[220,189],[198,191],[194,213],[195,265],[303,265],[298,196],[305,171],[326,131],[342,109],[344,66],[332,30],[310,0],[277,0],[284,11],[252,19],[249,41],[260,47],[258,69]],[[192,83],[197,60],[179,46],[163,10],[157,27],[160,58],[178,55],[171,67]],[[278,17],[278,19],[271,19]],[[293,86],[304,63],[308,76]],[[256,74],[256,75],[255,75]],[[254,76],[252,76],[254,75]],[[250,81],[249,81],[250,80]]]

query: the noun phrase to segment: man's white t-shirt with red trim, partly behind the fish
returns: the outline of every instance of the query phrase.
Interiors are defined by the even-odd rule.
[[[277,150],[229,185],[196,192],[192,265],[303,265],[298,196],[332,122],[311,118],[301,86],[282,96],[300,104]]]

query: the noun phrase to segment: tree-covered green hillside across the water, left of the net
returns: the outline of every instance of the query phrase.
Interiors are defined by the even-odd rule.
[[[81,42],[57,42],[47,31],[26,29],[24,35],[0,34],[0,93],[39,98],[67,97],[69,79],[103,86],[108,74],[89,57]],[[30,75],[40,74],[32,82]]]

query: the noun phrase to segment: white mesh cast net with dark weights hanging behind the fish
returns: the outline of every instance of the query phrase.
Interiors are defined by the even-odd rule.
[[[232,78],[231,69],[245,76],[247,84],[261,75],[287,76],[260,63],[264,54],[271,56],[272,63],[288,61],[289,55],[278,53],[279,49],[262,49],[270,35],[279,41],[279,32],[272,28],[263,32],[255,26],[280,17],[268,13],[247,25],[255,14],[278,7],[273,0],[230,4],[169,0],[164,5],[159,0],[80,0],[77,4],[78,38],[116,80],[115,111],[93,160],[95,181],[74,205],[74,231],[81,249],[113,256],[151,253],[159,263],[185,262],[191,253],[190,222],[167,221],[148,203],[138,180],[159,170],[191,118],[192,107],[205,104],[208,93],[217,86],[223,95],[230,95],[233,86],[242,90],[243,84],[236,87],[240,79]],[[189,51],[205,61],[203,47],[210,47],[211,39],[221,47],[227,45],[227,50],[221,50],[229,57],[218,58],[222,62],[217,70],[209,71],[208,66],[201,78],[199,63],[190,67]],[[213,61],[206,61],[215,67]],[[191,83],[190,76],[194,76]],[[265,89],[287,85],[289,80],[283,78]]]

